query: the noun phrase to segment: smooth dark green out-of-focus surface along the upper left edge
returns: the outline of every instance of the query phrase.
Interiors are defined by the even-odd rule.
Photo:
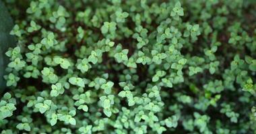
[[[0,1],[0,93],[5,90],[5,68],[7,66],[8,58],[5,52],[9,47],[15,46],[15,37],[11,36],[9,32],[13,27],[13,20],[9,15],[4,3]]]

